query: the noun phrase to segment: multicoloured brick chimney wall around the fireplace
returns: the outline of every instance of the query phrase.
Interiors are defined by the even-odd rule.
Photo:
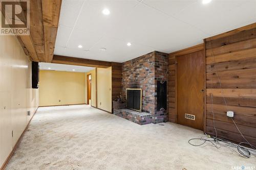
[[[166,122],[167,113],[157,111],[157,81],[167,81],[168,55],[152,52],[122,63],[122,92],[142,89],[142,111],[153,114],[153,123]]]

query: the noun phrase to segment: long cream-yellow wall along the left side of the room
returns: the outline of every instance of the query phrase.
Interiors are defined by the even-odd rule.
[[[15,36],[0,36],[0,166],[37,107],[38,90],[31,88],[28,56]]]

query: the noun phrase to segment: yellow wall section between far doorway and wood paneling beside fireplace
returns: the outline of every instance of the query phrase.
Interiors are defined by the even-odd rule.
[[[112,69],[97,68],[98,108],[112,111]]]

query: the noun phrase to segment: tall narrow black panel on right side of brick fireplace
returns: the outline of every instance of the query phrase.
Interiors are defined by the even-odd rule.
[[[167,82],[157,81],[157,111],[167,109]]]

